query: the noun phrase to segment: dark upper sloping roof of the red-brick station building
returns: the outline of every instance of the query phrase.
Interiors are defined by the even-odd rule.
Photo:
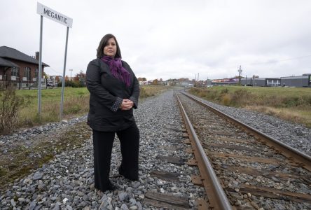
[[[17,59],[23,62],[29,62],[31,64],[39,64],[39,60],[34,59],[34,57],[26,55],[25,53],[15,50],[14,48],[9,48],[7,46],[0,47],[0,57],[2,59],[10,58],[10,59]],[[48,64],[45,64],[43,62],[42,65],[49,66]]]

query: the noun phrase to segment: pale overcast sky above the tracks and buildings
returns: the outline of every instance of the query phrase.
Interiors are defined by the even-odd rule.
[[[100,39],[114,34],[137,77],[206,80],[311,73],[309,0],[41,0],[72,18],[67,71],[86,71]],[[0,0],[0,46],[39,51],[37,1]],[[49,75],[62,75],[64,25],[43,18],[43,57]]]

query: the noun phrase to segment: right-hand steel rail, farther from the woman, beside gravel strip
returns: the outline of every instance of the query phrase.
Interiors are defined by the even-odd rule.
[[[232,118],[228,116],[226,113],[223,113],[222,111],[219,111],[217,109],[214,109],[212,106],[209,106],[208,104],[201,102],[200,100],[196,99],[195,97],[192,97],[190,94],[186,94],[185,92],[181,92],[182,94],[186,95],[187,97],[193,99],[195,102],[198,102],[199,104],[202,104],[202,106],[207,107],[211,111],[213,111],[216,114],[219,114],[220,116],[223,116],[224,118],[230,120],[231,123],[234,123],[235,125],[242,127],[244,130],[247,130],[247,132],[250,132],[255,137],[258,137],[258,139],[261,139],[265,142],[265,144],[268,144],[268,146],[271,146],[275,149],[279,148],[279,151],[286,156],[287,158],[293,158],[296,160],[296,162],[300,163],[302,167],[307,169],[311,172],[311,157],[305,153],[302,153],[298,151],[296,148],[293,148],[291,146],[288,146],[284,144],[282,141],[279,141],[277,139],[274,139],[273,137],[270,137],[267,134],[264,134],[263,132],[256,130],[256,128],[251,127],[245,123],[242,123],[240,120],[237,120],[235,118]]]

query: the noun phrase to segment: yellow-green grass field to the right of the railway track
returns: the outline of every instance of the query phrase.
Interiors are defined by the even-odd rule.
[[[277,116],[311,127],[311,88],[214,86],[190,92],[225,106],[235,106]]]

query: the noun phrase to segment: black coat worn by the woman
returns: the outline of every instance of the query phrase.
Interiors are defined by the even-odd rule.
[[[130,72],[131,84],[125,83],[111,74],[109,65],[101,59],[93,59],[86,70],[86,86],[90,92],[88,125],[99,132],[125,130],[135,123],[133,109],[119,109],[123,99],[134,102],[137,109],[139,83],[130,66],[122,61],[122,66]]]

